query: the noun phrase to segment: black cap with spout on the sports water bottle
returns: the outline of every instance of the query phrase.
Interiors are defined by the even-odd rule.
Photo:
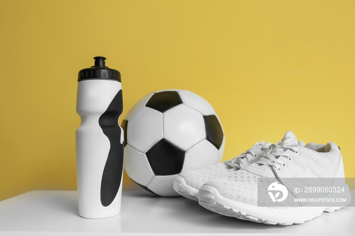
[[[94,66],[79,71],[78,82],[83,80],[114,80],[121,82],[120,71],[105,66],[106,58],[94,57],[94,60]]]

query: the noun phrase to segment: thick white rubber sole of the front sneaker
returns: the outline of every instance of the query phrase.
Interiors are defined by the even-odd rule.
[[[323,212],[334,212],[343,207],[290,207],[268,208],[236,202],[224,198],[211,186],[202,186],[198,192],[199,204],[221,215],[264,224],[292,225],[309,221]]]

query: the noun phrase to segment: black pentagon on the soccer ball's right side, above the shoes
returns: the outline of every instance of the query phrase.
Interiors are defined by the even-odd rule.
[[[203,120],[206,126],[206,139],[219,150],[224,136],[220,122],[216,115],[204,115]]]

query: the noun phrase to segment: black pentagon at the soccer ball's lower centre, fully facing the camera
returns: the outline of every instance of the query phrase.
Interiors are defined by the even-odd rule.
[[[155,175],[175,175],[183,169],[185,151],[166,139],[161,139],[147,153]]]

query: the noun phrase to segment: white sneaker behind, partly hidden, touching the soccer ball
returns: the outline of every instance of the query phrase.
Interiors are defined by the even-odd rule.
[[[222,163],[212,164],[205,168],[181,172],[173,182],[173,189],[185,198],[198,201],[198,189],[207,181],[226,176],[240,168],[259,160],[268,151],[270,142],[258,142],[245,152]]]

